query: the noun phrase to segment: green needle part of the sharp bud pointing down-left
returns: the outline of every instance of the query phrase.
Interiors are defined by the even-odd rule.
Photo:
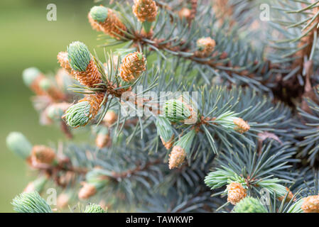
[[[70,106],[63,117],[69,126],[85,126],[90,121],[90,109],[91,105],[88,101],[80,101]]]

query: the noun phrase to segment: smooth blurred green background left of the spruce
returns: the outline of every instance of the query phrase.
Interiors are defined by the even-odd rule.
[[[48,4],[57,6],[57,21],[47,21]],[[58,128],[39,125],[31,104],[33,94],[24,86],[21,72],[32,66],[55,72],[56,55],[73,40],[86,43],[90,50],[96,48],[97,33],[87,21],[92,6],[93,0],[0,1],[0,212],[13,212],[11,200],[34,177],[6,148],[6,135],[21,131],[33,144],[64,140]]]

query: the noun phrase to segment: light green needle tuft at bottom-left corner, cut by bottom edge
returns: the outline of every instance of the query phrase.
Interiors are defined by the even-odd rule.
[[[52,213],[50,206],[38,192],[23,192],[13,201],[13,210],[18,213]]]

